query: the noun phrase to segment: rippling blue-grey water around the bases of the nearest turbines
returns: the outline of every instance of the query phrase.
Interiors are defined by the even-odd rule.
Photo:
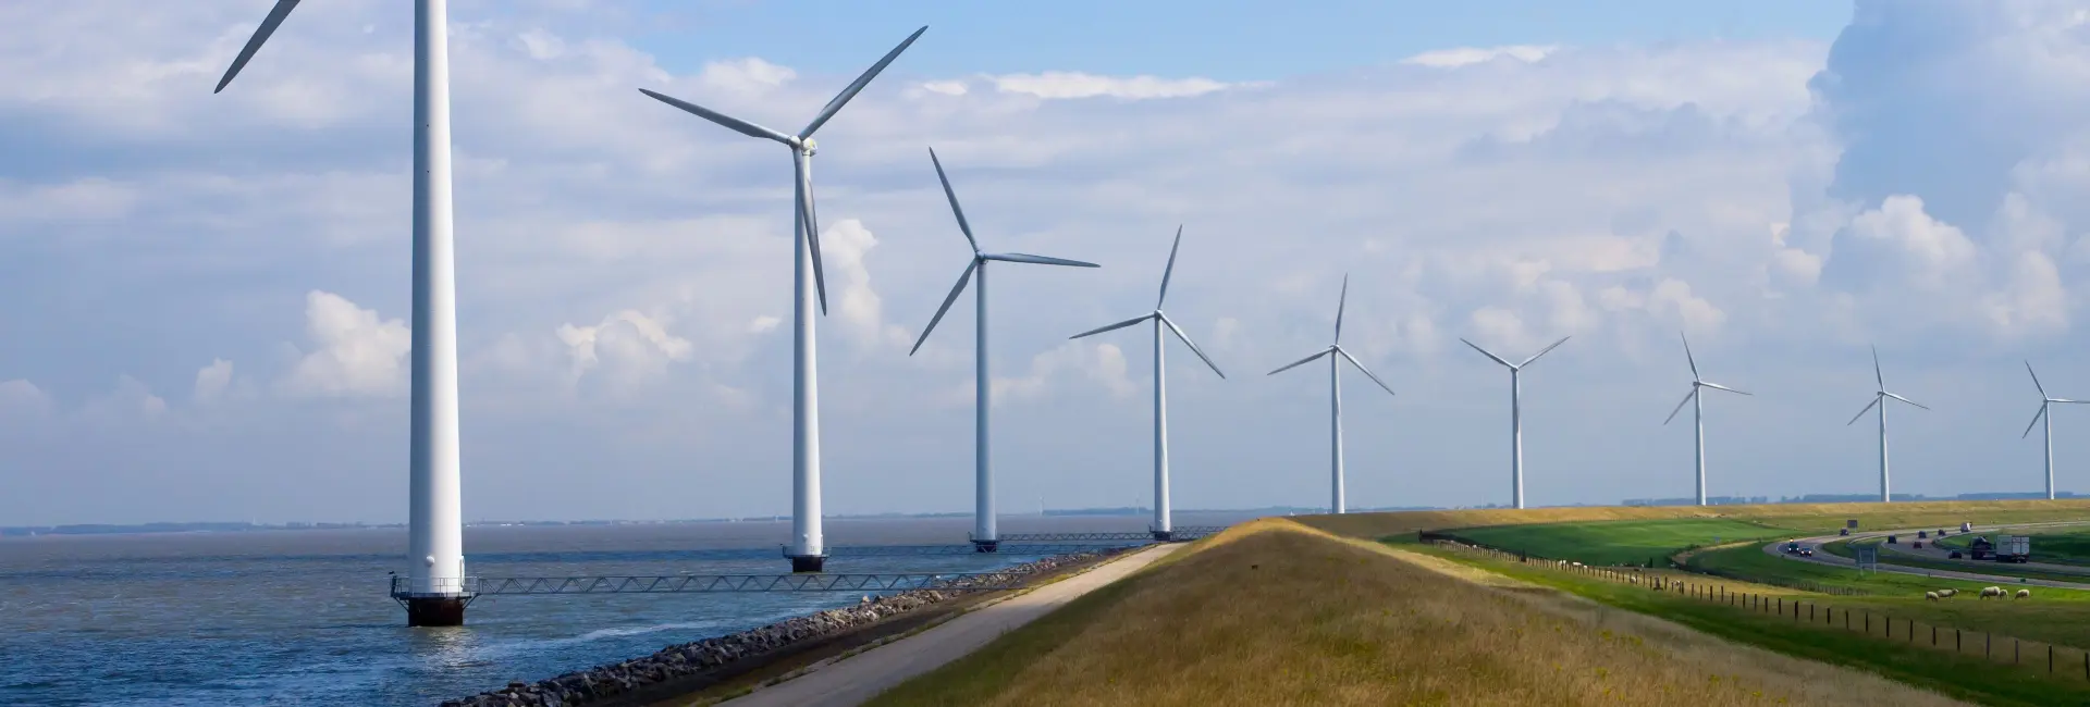
[[[828,521],[828,542],[947,544],[970,528]],[[1143,517],[1009,517],[1001,530],[1143,528]],[[477,576],[780,574],[788,532],[790,521],[468,528],[464,546]],[[0,705],[433,705],[859,596],[487,596],[464,628],[410,630],[385,596],[403,551],[395,528],[0,538]],[[851,557],[828,559],[828,571],[984,571],[1024,559]]]

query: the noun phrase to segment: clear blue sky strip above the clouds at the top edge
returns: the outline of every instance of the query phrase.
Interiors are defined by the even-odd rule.
[[[765,56],[849,73],[920,25],[909,65],[928,73],[1204,75],[1262,81],[1394,63],[1450,46],[1833,40],[1850,2],[654,2],[667,19],[631,35],[671,71],[711,56]]]

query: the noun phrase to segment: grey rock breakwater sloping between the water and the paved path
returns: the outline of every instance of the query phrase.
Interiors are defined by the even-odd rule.
[[[738,634],[704,638],[660,649],[654,655],[610,665],[571,672],[550,680],[510,682],[506,688],[445,701],[441,707],[571,707],[627,694],[660,682],[698,676],[734,661],[757,659],[777,649],[834,636],[844,630],[876,624],[884,617],[970,594],[968,586],[1009,584],[1020,578],[1053,571],[1072,563],[1114,555],[1124,548],[1047,557],[995,574],[959,578],[930,588],[890,596],[865,596],[853,607],[817,611]]]

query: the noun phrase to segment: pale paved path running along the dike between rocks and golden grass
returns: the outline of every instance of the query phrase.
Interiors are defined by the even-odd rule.
[[[746,697],[727,701],[725,705],[863,705],[872,697],[878,697],[878,692],[884,692],[907,678],[926,674],[943,663],[978,651],[1001,634],[1030,624],[1032,619],[1064,607],[1076,596],[1122,580],[1124,576],[1131,576],[1133,571],[1152,565],[1156,559],[1168,557],[1168,553],[1181,548],[1183,544],[1179,542],[1152,544],[1078,576],[968,611],[915,636],[857,653],[794,680],[748,692]]]

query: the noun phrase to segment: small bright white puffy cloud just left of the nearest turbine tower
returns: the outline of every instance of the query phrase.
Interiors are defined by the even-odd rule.
[[[314,350],[278,386],[295,396],[395,396],[405,390],[405,355],[414,334],[401,319],[311,290],[305,294],[305,338]]]

